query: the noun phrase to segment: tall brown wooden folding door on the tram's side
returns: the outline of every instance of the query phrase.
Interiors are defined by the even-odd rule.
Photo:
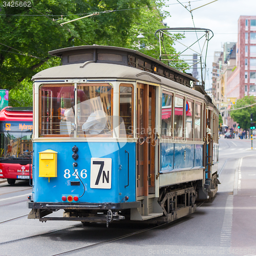
[[[156,88],[137,84],[137,196],[155,193]]]

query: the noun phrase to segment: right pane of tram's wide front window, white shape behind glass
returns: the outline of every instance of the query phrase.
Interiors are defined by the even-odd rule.
[[[77,84],[77,137],[113,136],[112,86]]]

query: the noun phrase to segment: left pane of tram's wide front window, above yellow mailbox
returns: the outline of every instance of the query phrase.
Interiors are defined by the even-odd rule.
[[[73,137],[73,84],[44,84],[39,89],[39,100],[39,136]]]

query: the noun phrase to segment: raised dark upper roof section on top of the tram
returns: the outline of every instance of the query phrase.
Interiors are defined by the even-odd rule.
[[[180,72],[160,60],[147,56],[137,50],[127,48],[98,45],[76,46],[53,50],[50,51],[49,54],[61,57],[63,66],[74,63],[84,63],[86,61],[115,63],[148,71],[171,80],[182,77],[185,80],[198,82],[198,80],[190,74]],[[188,83],[187,86],[189,87],[190,83]]]

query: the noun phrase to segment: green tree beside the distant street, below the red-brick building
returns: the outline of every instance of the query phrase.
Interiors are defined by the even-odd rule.
[[[240,124],[240,127],[243,130],[250,129],[250,115],[253,116],[253,122],[256,121],[256,105],[249,106],[253,103],[256,103],[256,99],[254,96],[245,96],[242,99],[238,99],[236,104],[234,105],[235,110],[230,111],[231,118]],[[243,108],[244,106],[248,106],[247,108]],[[239,109],[243,108],[243,109]],[[238,109],[238,110],[236,110]]]

